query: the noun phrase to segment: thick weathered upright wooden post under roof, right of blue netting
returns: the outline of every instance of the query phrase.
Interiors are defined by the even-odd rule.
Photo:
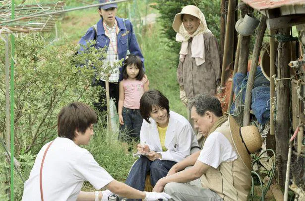
[[[290,27],[279,29],[279,34],[289,36]],[[278,170],[278,181],[285,181],[286,167],[288,159],[289,134],[290,134],[290,80],[285,79],[290,77],[289,73],[289,45],[288,42],[279,41],[278,55],[277,55],[277,72],[278,80],[276,83],[276,121],[275,121],[275,140],[276,140],[276,154],[281,155],[282,168]],[[284,184],[280,184],[284,188]]]

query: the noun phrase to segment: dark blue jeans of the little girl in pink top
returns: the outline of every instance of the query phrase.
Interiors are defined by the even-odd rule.
[[[140,115],[140,110],[123,107],[122,116],[124,125],[120,125],[119,140],[131,142],[132,139],[134,139],[139,141],[143,122],[143,117]]]

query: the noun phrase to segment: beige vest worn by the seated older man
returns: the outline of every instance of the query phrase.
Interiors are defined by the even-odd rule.
[[[230,134],[229,121],[215,131],[224,134],[237,153]],[[216,192],[224,201],[246,201],[251,188],[251,172],[238,155],[236,160],[222,162],[217,169],[210,167],[201,176],[201,184]]]

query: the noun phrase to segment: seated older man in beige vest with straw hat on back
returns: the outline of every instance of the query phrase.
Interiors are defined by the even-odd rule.
[[[246,201],[250,153],[262,145],[257,128],[240,128],[232,116],[223,116],[219,100],[210,95],[195,96],[189,107],[195,128],[205,137],[202,150],[174,165],[153,191],[164,190],[171,201]],[[188,183],[197,179],[199,185]]]

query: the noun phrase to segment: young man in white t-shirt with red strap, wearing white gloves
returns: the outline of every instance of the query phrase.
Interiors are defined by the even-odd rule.
[[[168,200],[165,193],[148,193],[118,182],[93,158],[79,147],[87,145],[94,134],[97,116],[92,108],[80,102],[63,107],[58,115],[58,137],[45,144],[35,159],[29,179],[24,183],[22,201],[108,201],[112,192],[143,201]],[[96,190],[83,192],[90,182]]]

